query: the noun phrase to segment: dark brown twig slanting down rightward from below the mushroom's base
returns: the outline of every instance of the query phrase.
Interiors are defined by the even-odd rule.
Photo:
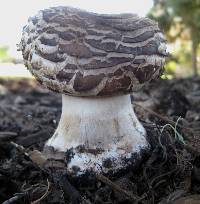
[[[97,179],[99,181],[105,183],[106,185],[110,186],[112,189],[118,191],[119,193],[124,194],[126,197],[128,197],[132,201],[135,201],[135,203],[138,203],[138,201],[141,200],[141,198],[139,196],[133,195],[132,193],[129,193],[126,190],[120,188],[118,185],[113,183],[110,179],[108,179],[107,177],[103,176],[102,174],[98,174],[97,175]]]

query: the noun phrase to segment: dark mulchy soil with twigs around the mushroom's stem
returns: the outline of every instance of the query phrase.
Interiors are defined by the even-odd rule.
[[[34,80],[0,79],[0,203],[200,203],[200,79],[159,80],[132,99],[151,151],[137,168],[84,182],[42,165],[61,96]]]

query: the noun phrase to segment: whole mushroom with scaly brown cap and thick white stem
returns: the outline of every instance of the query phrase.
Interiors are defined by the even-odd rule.
[[[20,49],[35,78],[62,94],[60,122],[45,148],[55,157],[72,151],[70,172],[118,172],[149,149],[130,93],[163,71],[166,40],[157,23],[53,7],[29,18]]]

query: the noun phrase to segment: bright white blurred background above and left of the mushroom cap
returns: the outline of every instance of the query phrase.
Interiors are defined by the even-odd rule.
[[[152,0],[6,0],[0,7],[0,76],[31,77],[17,52],[22,28],[30,16],[51,6],[72,6],[97,13],[137,13],[145,16]]]

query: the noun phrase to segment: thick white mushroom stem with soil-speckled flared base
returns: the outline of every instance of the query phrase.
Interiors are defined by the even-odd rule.
[[[133,111],[130,95],[63,95],[62,103],[58,128],[46,146],[59,152],[73,151],[70,172],[117,172],[148,149],[146,131]]]

